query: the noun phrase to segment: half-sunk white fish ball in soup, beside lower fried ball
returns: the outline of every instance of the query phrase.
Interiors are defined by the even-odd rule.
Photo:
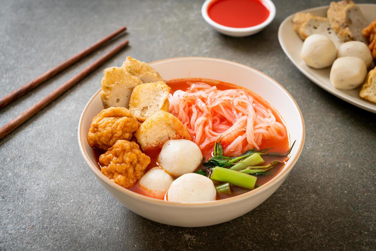
[[[147,171],[138,181],[138,185],[156,198],[163,197],[174,179],[159,167]]]

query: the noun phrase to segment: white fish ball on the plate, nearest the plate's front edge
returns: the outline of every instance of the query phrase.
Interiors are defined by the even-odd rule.
[[[356,57],[337,58],[330,71],[330,81],[335,88],[352,90],[364,81],[367,67],[362,59]]]

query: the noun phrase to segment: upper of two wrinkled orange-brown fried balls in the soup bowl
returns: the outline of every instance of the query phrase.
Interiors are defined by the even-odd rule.
[[[91,121],[88,143],[91,147],[107,150],[117,140],[130,140],[140,123],[124,107],[109,107]]]

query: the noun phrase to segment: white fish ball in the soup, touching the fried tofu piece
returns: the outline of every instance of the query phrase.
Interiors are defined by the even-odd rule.
[[[190,140],[167,140],[158,162],[170,175],[179,177],[197,169],[202,162],[202,153],[199,146]]]

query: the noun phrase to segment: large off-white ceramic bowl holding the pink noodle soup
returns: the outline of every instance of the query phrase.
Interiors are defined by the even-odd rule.
[[[290,139],[296,140],[284,169],[258,189],[232,198],[210,202],[181,203],[163,201],[127,190],[104,176],[96,165],[86,141],[91,120],[102,109],[99,91],[89,100],[78,125],[80,151],[100,184],[125,207],[152,221],[182,227],[214,225],[237,218],[260,205],[286,179],[302,152],[305,127],[302,113],[291,95],[276,81],[246,65],[215,58],[170,58],[150,63],[162,78],[207,78],[229,82],[254,91],[274,106],[284,119]],[[89,188],[88,188],[89,189]],[[286,194],[285,196],[290,196]],[[203,212],[215,211],[215,214]]]

